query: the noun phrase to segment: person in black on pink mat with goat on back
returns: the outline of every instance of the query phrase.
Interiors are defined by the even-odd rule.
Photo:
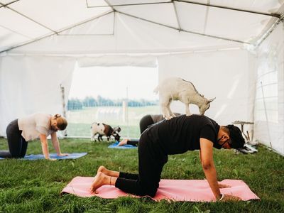
[[[217,182],[213,147],[229,149],[243,146],[244,138],[238,127],[219,126],[207,116],[182,115],[160,121],[141,135],[138,146],[138,174],[116,172],[100,166],[92,183],[92,192],[109,184],[133,195],[154,197],[168,155],[200,150],[202,168],[216,199],[234,200],[238,197],[220,193],[219,188],[226,186]]]

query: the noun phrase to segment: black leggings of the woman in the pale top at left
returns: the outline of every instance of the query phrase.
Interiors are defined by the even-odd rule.
[[[6,129],[9,151],[0,151],[1,158],[23,158],[26,155],[28,142],[21,133],[18,129],[18,119],[11,121]]]

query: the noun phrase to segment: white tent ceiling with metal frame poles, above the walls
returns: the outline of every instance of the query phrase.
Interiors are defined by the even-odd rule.
[[[0,0],[0,52],[173,52],[258,45],[284,0]]]

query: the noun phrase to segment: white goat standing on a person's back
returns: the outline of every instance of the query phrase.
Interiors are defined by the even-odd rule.
[[[196,104],[200,109],[200,114],[209,109],[210,102],[213,99],[206,99],[202,94],[195,89],[195,86],[192,82],[187,82],[186,80],[181,79],[180,77],[170,77],[165,80],[154,90],[155,93],[160,94],[160,107],[162,114],[165,119],[171,119],[175,116],[170,110],[170,103],[173,100],[180,100],[180,102],[185,104],[185,114],[190,116],[190,107],[189,104]]]

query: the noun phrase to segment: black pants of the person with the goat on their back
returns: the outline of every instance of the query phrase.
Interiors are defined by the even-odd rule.
[[[153,148],[147,133],[143,133],[138,146],[138,174],[119,173],[115,186],[133,195],[155,196],[160,182],[163,166],[168,161],[168,155]]]

